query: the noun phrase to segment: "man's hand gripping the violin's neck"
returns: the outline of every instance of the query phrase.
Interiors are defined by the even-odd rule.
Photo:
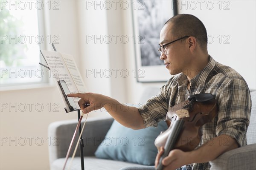
[[[159,159],[163,152],[163,147],[160,147],[160,150],[157,153],[157,157],[155,160],[155,168],[157,168],[157,165],[159,164]],[[163,170],[175,170],[185,164],[189,164],[189,162],[192,161],[190,160],[189,156],[189,152],[183,152],[179,149],[172,150],[169,155],[162,160],[162,164],[164,166]]]

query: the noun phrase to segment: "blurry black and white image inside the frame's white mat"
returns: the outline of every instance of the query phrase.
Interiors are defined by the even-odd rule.
[[[138,0],[143,3],[143,10],[137,10],[140,41],[141,65],[163,65],[159,59],[159,32],[164,23],[170,18],[163,11],[166,1],[161,0]],[[168,4],[169,5],[169,4]]]

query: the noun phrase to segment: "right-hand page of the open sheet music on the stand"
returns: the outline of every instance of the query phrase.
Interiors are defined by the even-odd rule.
[[[78,67],[76,66],[76,62],[73,56],[69,54],[62,54],[62,57],[67,65],[70,74],[72,75],[73,81],[75,82],[79,93],[86,93],[87,90],[85,88],[84,81],[81,77]]]

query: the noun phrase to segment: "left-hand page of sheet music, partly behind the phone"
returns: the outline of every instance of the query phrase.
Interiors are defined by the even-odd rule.
[[[44,51],[44,50],[40,50],[40,51],[50,68],[51,77],[53,77],[55,79],[55,82],[57,83],[59,92],[62,94],[61,88],[58,85],[58,80],[65,80],[71,94],[79,93],[79,90],[76,87],[76,83],[74,82],[72,76],[70,75],[70,72],[64,62],[64,59],[62,58],[61,53],[57,51]],[[66,105],[67,111],[70,111],[64,96],[61,95],[61,97]],[[78,105],[79,98],[73,98],[73,99],[74,99],[74,102],[76,103],[76,107],[80,108]]]

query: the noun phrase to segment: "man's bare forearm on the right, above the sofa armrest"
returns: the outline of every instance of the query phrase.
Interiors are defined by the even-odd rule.
[[[190,152],[191,163],[209,162],[222,153],[235,149],[238,144],[235,139],[227,135],[217,136],[196,150]]]

